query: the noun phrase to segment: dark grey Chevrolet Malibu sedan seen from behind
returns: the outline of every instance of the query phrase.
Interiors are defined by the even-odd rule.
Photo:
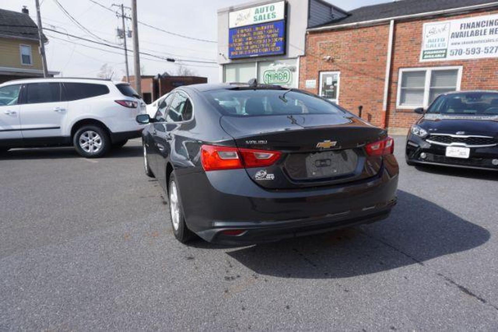
[[[181,242],[275,241],[382,220],[396,203],[392,138],[299,90],[182,87],[137,121]]]

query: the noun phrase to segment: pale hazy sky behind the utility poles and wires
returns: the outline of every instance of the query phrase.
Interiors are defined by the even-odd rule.
[[[101,38],[99,41],[110,44],[122,44],[116,37],[116,28],[121,27],[121,18],[106,8],[113,3],[130,6],[130,0],[40,0],[41,17],[44,28],[61,33],[45,31],[49,39],[46,45],[48,68],[58,71],[65,77],[97,77],[101,67],[107,64],[112,68],[114,79],[121,80],[125,73],[124,54],[122,50],[92,44],[67,36],[65,33],[96,40],[89,32],[78,27],[56,4],[59,2],[66,11],[84,28]],[[95,2],[102,4],[99,6]],[[217,10],[219,8],[249,2],[248,0],[138,0],[138,20],[166,31],[175,32],[198,39],[216,41]],[[330,0],[346,10],[371,5],[386,0]],[[29,15],[36,22],[34,0],[1,0],[0,8],[20,11],[26,5]],[[128,11],[129,14],[129,11]],[[130,22],[127,22],[131,29]],[[208,77],[209,82],[218,82],[219,68],[216,64],[217,44],[174,36],[144,25],[138,26],[140,51],[159,57],[201,61],[183,62],[184,68],[192,70],[198,76]],[[103,41],[105,40],[105,41]],[[79,43],[79,44],[75,44]],[[132,39],[127,39],[131,48]],[[87,46],[83,46],[87,45]],[[90,48],[91,46],[93,48]],[[106,52],[105,49],[111,52]],[[133,57],[128,54],[130,75],[133,75]],[[168,72],[175,74],[179,65],[168,63],[151,56],[141,56],[142,75],[156,75]]]

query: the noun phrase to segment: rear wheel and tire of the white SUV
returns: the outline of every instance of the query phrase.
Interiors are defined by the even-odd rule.
[[[98,136],[93,136],[89,133],[96,133]],[[91,141],[93,139],[93,141]],[[92,144],[89,150],[83,148],[85,141],[91,141]],[[80,144],[81,142],[81,144]],[[100,143],[100,146],[98,145]],[[80,127],[73,137],[73,145],[76,151],[85,158],[100,158],[111,149],[111,138],[107,130],[101,126],[89,124]],[[88,145],[87,145],[88,146]],[[95,149],[95,150],[94,150]],[[91,151],[94,150],[94,151]]]

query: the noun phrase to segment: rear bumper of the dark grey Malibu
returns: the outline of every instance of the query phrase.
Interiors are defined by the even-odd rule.
[[[276,241],[384,219],[395,205],[398,183],[393,157],[373,178],[298,190],[263,189],[245,170],[175,172],[188,227],[225,244]],[[224,235],[229,229],[244,232]]]

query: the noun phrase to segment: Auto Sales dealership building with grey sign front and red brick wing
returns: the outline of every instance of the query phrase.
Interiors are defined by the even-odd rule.
[[[498,1],[399,0],[351,11],[333,2],[219,10],[222,81],[306,90],[392,132],[406,131],[413,110],[441,93],[498,90]]]

